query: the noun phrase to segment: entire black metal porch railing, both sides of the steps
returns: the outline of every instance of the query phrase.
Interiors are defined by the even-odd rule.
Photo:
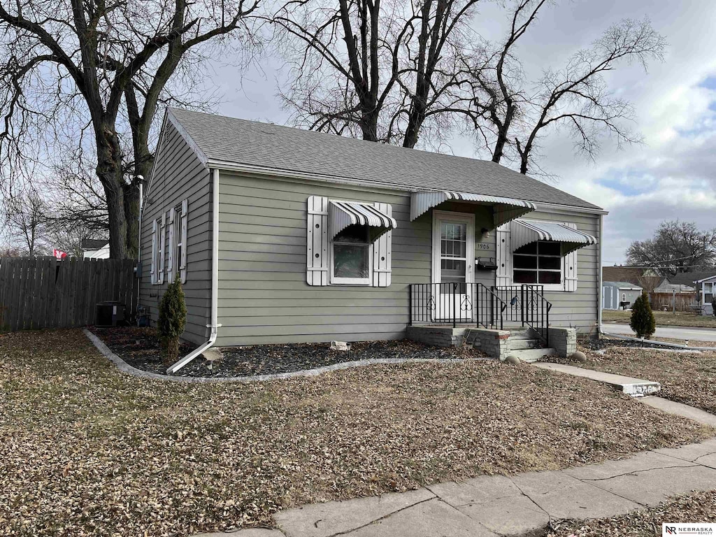
[[[504,329],[508,324],[529,326],[549,344],[549,311],[543,286],[488,287],[480,283],[410,284],[410,324],[475,324]]]

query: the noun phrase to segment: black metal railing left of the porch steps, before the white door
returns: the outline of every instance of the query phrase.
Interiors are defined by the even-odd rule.
[[[503,329],[507,304],[483,284],[410,284],[410,324],[475,324]]]

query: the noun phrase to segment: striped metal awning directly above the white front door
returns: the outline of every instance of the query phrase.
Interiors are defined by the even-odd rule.
[[[440,203],[449,200],[488,203],[493,205],[493,228],[498,228],[498,226],[502,226],[503,223],[508,223],[536,209],[536,205],[531,201],[501,198],[495,195],[470,194],[468,192],[452,192],[450,190],[414,192],[410,195],[410,221],[426,213],[430,208],[436,207],[440,205]]]

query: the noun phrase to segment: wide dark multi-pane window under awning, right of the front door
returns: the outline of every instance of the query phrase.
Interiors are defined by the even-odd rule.
[[[538,241],[517,248],[513,253],[515,284],[561,285],[562,245],[554,241]]]

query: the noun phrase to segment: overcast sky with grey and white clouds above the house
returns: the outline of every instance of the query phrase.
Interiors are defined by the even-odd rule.
[[[540,160],[558,176],[558,188],[609,211],[606,265],[624,262],[629,243],[652,236],[664,219],[716,227],[716,2],[562,0],[543,11],[519,49],[528,73],[558,68],[611,24],[644,16],[667,38],[666,61],[651,64],[647,73],[635,65],[621,67],[609,84],[635,105],[635,127],[646,143],[624,151],[606,145],[591,163],[575,156],[569,137],[557,132],[544,141]],[[484,37],[498,37],[504,14],[486,5],[475,24]],[[278,59],[266,59],[263,72],[239,74],[217,65],[212,78],[223,102],[216,111],[285,124],[288,112],[276,97],[281,67]],[[475,155],[470,140],[455,140],[453,152]]]

